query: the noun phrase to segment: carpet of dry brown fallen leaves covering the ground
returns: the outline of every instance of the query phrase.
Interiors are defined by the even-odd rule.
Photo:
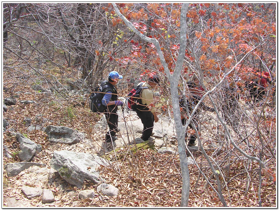
[[[7,80],[6,80],[7,82]],[[12,82],[11,82],[12,83]],[[8,84],[6,84],[9,86]],[[71,107],[68,100],[63,98],[47,97],[46,94],[38,93],[30,88],[30,85],[21,82],[20,86],[16,86],[14,92],[22,91],[32,94],[20,94],[17,100],[35,100],[36,104],[19,104],[8,107],[8,112],[3,113],[3,117],[10,122],[10,128],[15,129],[15,133],[26,134],[28,138],[37,144],[42,145],[42,151],[34,157],[33,162],[42,162],[50,168],[49,161],[55,150],[69,150],[76,152],[97,153],[94,148],[85,142],[75,145],[64,145],[61,143],[51,143],[47,141],[47,136],[42,131],[27,131],[27,126],[23,124],[25,117],[32,120],[32,124],[36,122],[36,116],[41,114],[47,119],[43,126],[60,125],[80,132],[86,133],[86,138],[91,139],[92,143],[101,141],[104,133],[94,128],[96,121],[100,116],[93,115],[88,107]],[[3,98],[9,97],[10,92],[3,92]],[[67,107],[71,107],[74,116],[68,115]],[[38,123],[41,123],[38,121]],[[210,141],[204,139],[203,141]],[[16,142],[15,136],[9,131],[3,133],[3,143],[10,149],[13,158],[3,157],[3,164],[19,162],[17,152],[20,151],[19,144]],[[208,144],[206,142],[206,144]],[[233,150],[232,150],[233,151]],[[211,155],[213,151],[208,151]],[[124,155],[123,155],[124,154]],[[31,169],[25,170],[16,177],[7,177],[3,170],[3,198],[15,196],[16,199],[29,202],[30,207],[179,207],[181,200],[181,171],[179,164],[179,156],[162,155],[153,150],[139,150],[135,154],[130,154],[127,148],[117,151],[117,160],[112,160],[109,167],[100,167],[100,175],[106,183],[112,184],[119,189],[116,198],[102,196],[96,192],[94,199],[78,199],[77,187],[69,185],[63,180],[55,180],[54,185],[44,187],[51,189],[55,195],[55,202],[52,204],[42,204],[41,198],[33,198],[31,200],[24,197],[21,193],[21,187],[28,185],[32,181],[32,177],[28,177]],[[219,155],[222,161],[226,153]],[[239,155],[236,152],[232,155]],[[210,182],[216,187],[215,178],[211,176],[210,168],[205,158],[200,153],[195,154],[195,159],[209,178]],[[247,163],[244,162],[243,163]],[[259,179],[257,176],[259,165],[257,163],[249,164],[249,171],[242,162],[236,162],[232,159],[229,165],[229,173],[225,174],[228,187],[224,186],[222,193],[226,203],[235,207],[255,207],[258,206],[258,187]],[[275,164],[268,166],[272,171],[276,170]],[[226,171],[226,166],[221,167],[222,171]],[[190,195],[189,207],[222,207],[218,196],[207,185],[202,176],[199,176],[199,170],[194,165],[189,165],[190,172]],[[271,173],[271,172],[270,172]],[[267,176],[270,173],[266,173]],[[247,176],[250,181],[248,182]],[[234,178],[233,178],[234,177]],[[31,178],[31,179],[30,179]],[[233,178],[233,179],[232,179]],[[261,199],[263,207],[275,207],[276,203],[276,185],[262,176]],[[34,180],[33,180],[34,181]],[[63,186],[63,188],[62,188]],[[95,189],[96,185],[85,182],[83,189]],[[69,197],[69,192],[74,192],[75,196]],[[5,204],[5,202],[4,202]]]

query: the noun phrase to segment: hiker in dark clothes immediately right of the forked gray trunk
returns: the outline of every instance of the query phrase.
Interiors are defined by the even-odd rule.
[[[191,112],[194,110],[195,106],[197,105],[197,103],[199,102],[201,97],[196,94],[195,83],[193,81],[188,81],[186,84],[188,85],[188,90],[190,93],[189,98],[186,98],[186,103],[188,106],[189,114],[191,115]],[[181,115],[182,125],[186,125],[186,122],[188,120],[187,118],[185,118],[185,117],[187,117],[187,111],[186,111],[186,105],[184,103],[184,99],[182,96],[179,96],[179,106],[182,108],[182,113],[183,113],[183,115]],[[210,112],[215,111],[214,108],[206,106],[205,103],[203,103],[203,102],[200,103],[200,106],[205,111],[210,111]],[[193,114],[192,120],[194,122],[194,126],[196,127],[197,131],[199,131],[199,126],[198,126],[199,125],[199,112],[198,112],[198,110]],[[190,122],[189,126],[191,129],[193,129],[193,125],[191,122]],[[186,138],[187,138],[187,128],[186,128],[186,132],[185,132],[185,142],[186,142]],[[195,146],[196,139],[197,139],[196,133],[190,135],[187,146],[188,147]]]

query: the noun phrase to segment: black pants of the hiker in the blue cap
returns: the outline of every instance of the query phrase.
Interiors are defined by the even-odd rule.
[[[106,133],[106,140],[110,139],[110,137],[115,136],[116,132],[115,130],[118,127],[118,115],[117,115],[117,109],[118,107],[115,106],[114,108],[107,108],[104,111],[104,114],[106,116],[106,120],[108,122],[108,132]]]

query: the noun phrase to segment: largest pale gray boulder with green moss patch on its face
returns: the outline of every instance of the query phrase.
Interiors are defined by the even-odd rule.
[[[62,150],[54,151],[50,165],[64,180],[81,189],[84,179],[93,183],[100,182],[100,175],[96,168],[107,163],[97,155]]]

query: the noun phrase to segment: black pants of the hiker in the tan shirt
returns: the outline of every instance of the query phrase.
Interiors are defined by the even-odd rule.
[[[153,131],[154,116],[148,109],[146,111],[137,109],[136,113],[144,125],[142,140],[147,141]]]

